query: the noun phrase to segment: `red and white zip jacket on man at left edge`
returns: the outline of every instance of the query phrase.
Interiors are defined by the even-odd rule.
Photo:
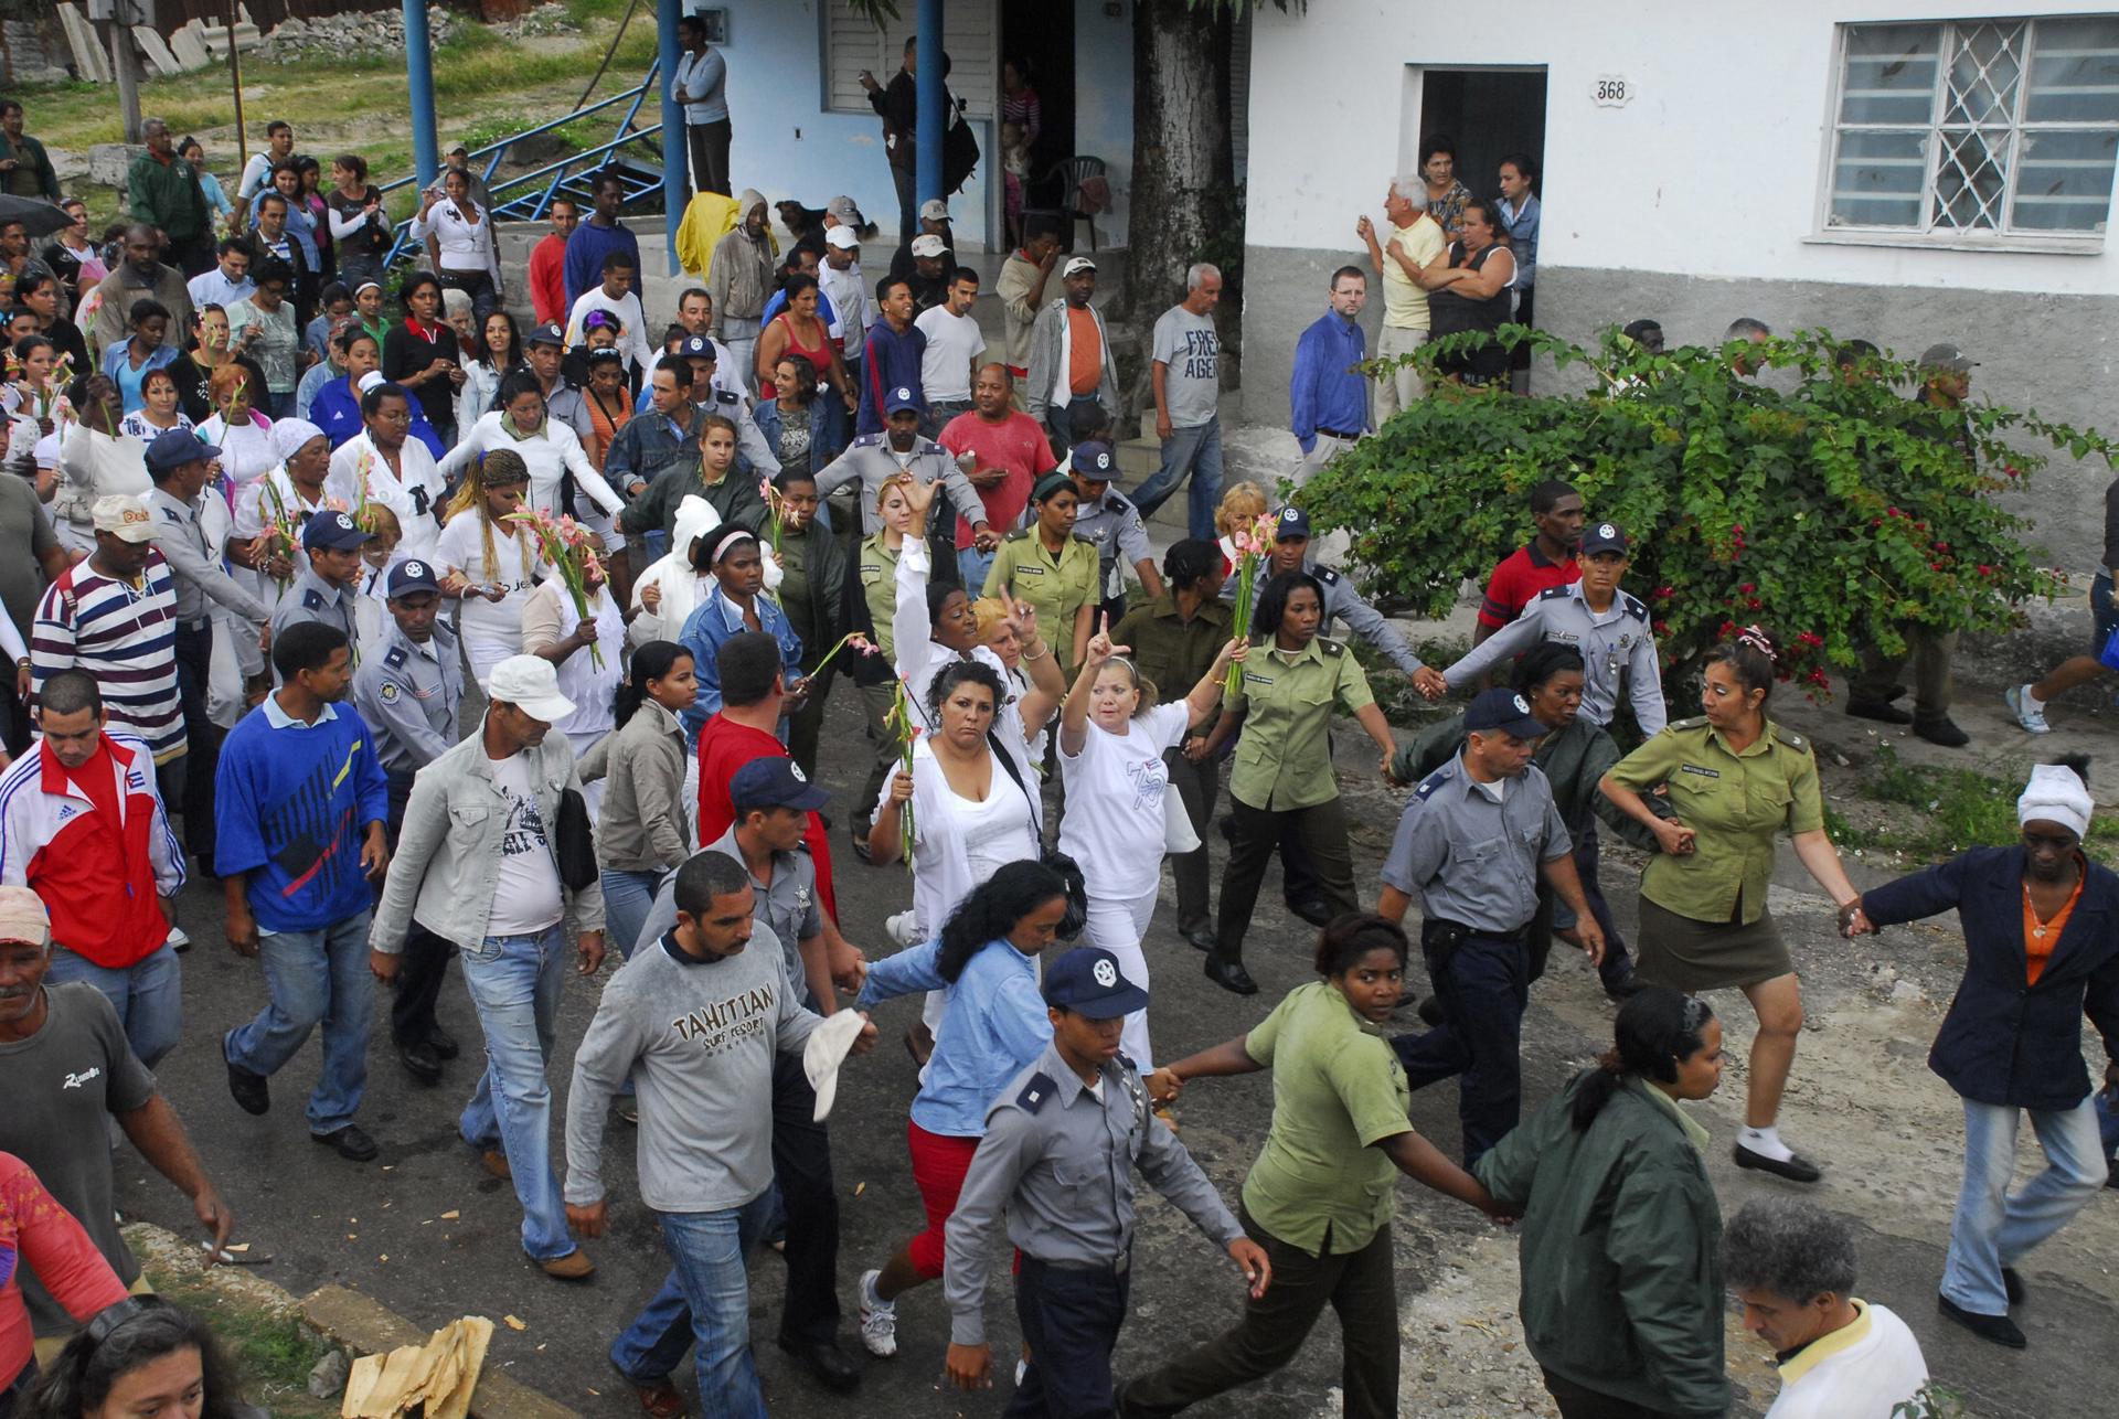
[[[106,733],[102,754],[81,769],[97,771],[112,777],[117,822],[42,739],[0,775],[0,883],[44,898],[57,945],[125,970],[170,938],[157,896],[184,885],[184,854],[144,741]]]

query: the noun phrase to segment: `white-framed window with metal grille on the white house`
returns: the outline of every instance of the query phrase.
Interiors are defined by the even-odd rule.
[[[1841,25],[1829,233],[2102,241],[2119,15]]]

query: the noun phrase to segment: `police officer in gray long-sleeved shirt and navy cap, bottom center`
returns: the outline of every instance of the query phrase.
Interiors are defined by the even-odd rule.
[[[1265,1294],[1271,1262],[1185,1144],[1153,1116],[1140,1070],[1119,1053],[1127,1012],[1148,1008],[1148,993],[1119,974],[1119,959],[1074,947],[1045,968],[1045,1006],[1053,1040],[994,1095],[949,1216],[949,1379],[960,1389],[987,1383],[985,1271],[1004,1211],[1021,1254],[1015,1315],[1030,1347],[1007,1413],[1110,1415],[1110,1353],[1134,1260],[1136,1167],[1242,1267],[1252,1296]]]

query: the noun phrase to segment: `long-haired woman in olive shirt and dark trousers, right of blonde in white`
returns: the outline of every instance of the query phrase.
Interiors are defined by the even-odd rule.
[[[1324,587],[1318,578],[1282,572],[1265,582],[1250,616],[1250,637],[1263,654],[1252,652],[1244,663],[1244,688],[1223,705],[1201,750],[1212,758],[1237,729],[1244,731],[1229,771],[1233,832],[1221,881],[1221,919],[1206,957],[1208,981],[1237,995],[1259,991],[1244,970],[1244,934],[1259,902],[1259,877],[1282,830],[1295,832],[1310,851],[1331,915],[1360,909],[1346,809],[1331,767],[1333,707],[1343,707],[1369,731],[1382,771],[1388,773],[1399,750],[1360,663],[1339,642],[1318,635],[1322,623]]]

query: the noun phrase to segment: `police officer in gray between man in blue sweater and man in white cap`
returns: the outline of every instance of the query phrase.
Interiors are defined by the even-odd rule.
[[[343,515],[341,515],[343,517]],[[318,521],[318,519],[311,519]],[[405,803],[420,769],[456,746],[456,705],[464,697],[464,669],[456,635],[437,621],[441,582],[434,565],[407,557],[384,580],[390,631],[354,671],[354,710],[375,735],[375,758],[390,779],[390,815],[384,828],[396,851]],[[441,1078],[441,1061],[456,1059],[456,1040],[434,1023],[434,1002],[456,949],[417,921],[405,936],[390,1034],[398,1059],[422,1084]]]

